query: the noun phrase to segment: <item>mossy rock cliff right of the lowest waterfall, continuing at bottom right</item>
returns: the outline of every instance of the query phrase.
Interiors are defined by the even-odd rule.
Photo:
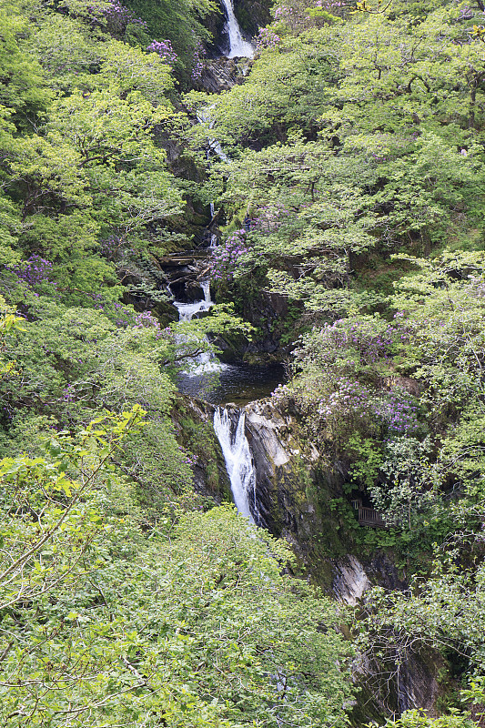
[[[343,494],[343,468],[323,467],[318,451],[298,433],[297,420],[270,400],[251,402],[245,410],[259,524],[288,539],[308,575],[339,602],[365,609],[372,586],[405,589],[389,554],[365,555],[345,520],[330,509],[330,501]],[[391,646],[385,662],[373,652],[361,655],[354,674],[361,697],[353,722],[381,721],[416,707],[432,710],[445,691],[440,676],[446,667],[439,652],[419,644],[402,653]]]

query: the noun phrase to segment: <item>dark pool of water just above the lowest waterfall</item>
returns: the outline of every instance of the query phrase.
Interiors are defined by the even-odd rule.
[[[217,380],[218,379],[218,380]],[[178,376],[177,386],[182,394],[206,399],[212,404],[234,402],[240,407],[253,399],[263,399],[287,379],[282,364],[257,367],[251,364],[228,364],[217,375]]]

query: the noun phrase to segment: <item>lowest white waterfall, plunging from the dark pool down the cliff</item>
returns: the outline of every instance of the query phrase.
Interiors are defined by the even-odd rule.
[[[253,512],[256,512],[256,473],[245,433],[245,421],[246,414],[243,410],[239,410],[236,428],[226,408],[217,407],[214,413],[214,430],[226,460],[227,475],[237,511],[254,523],[249,502],[252,501]]]

